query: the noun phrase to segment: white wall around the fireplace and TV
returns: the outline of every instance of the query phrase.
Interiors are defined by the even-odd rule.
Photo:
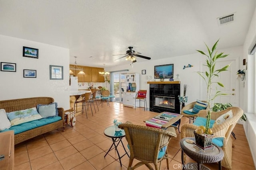
[[[208,46],[212,47],[212,45],[208,45]],[[205,52],[207,51],[206,48],[200,49],[200,50]],[[230,57],[230,59],[239,59],[239,57],[243,55],[242,46],[232,47],[228,49],[218,49],[217,47],[217,51],[224,52],[224,54],[229,54],[228,57]],[[176,79],[176,74],[179,74],[179,79],[181,82],[181,85],[180,85],[181,94],[183,94],[184,84],[188,85],[188,89],[186,92],[186,96],[188,96],[188,102],[186,104],[189,104],[191,102],[196,101],[197,99],[205,100],[204,96],[202,98],[200,97],[202,96],[200,95],[200,91],[201,91],[200,89],[202,87],[200,87],[200,76],[197,73],[198,71],[200,71],[200,63],[204,62],[205,60],[206,58],[204,55],[200,53],[194,53],[190,55],[170,57],[168,59],[159,59],[154,61],[145,60],[145,62],[142,62],[142,63],[134,63],[133,67],[130,65],[130,62],[128,62],[128,64],[126,65],[106,68],[106,71],[129,69],[128,71],[129,73],[134,73],[134,72],[140,73],[140,89],[146,89],[149,92],[149,84],[147,84],[147,82],[149,81],[148,76],[152,76],[153,79],[151,81],[154,81],[154,66],[162,65],[162,64],[174,64],[174,81]],[[193,65],[193,67],[183,69],[184,65],[187,66],[188,64]],[[142,75],[142,70],[146,70],[146,74]],[[236,78],[237,76],[234,75],[234,77]],[[160,79],[156,79],[156,81],[160,81]],[[169,80],[165,79],[164,81],[169,81]],[[149,97],[147,98],[147,103],[149,104]]]

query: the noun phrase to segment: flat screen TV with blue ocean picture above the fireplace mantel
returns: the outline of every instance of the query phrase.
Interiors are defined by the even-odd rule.
[[[173,78],[173,64],[155,66],[155,78]]]

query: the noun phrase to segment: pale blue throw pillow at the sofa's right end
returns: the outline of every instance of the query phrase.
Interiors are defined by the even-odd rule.
[[[38,113],[43,117],[52,117],[58,116],[58,104],[56,102],[51,104],[38,104],[37,106]]]

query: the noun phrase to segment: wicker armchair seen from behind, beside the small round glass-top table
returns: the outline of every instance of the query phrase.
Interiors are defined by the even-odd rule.
[[[122,123],[121,125],[118,125],[118,127],[124,129],[126,134],[125,138],[129,144],[130,160],[127,169],[133,170],[145,164],[150,170],[153,170],[152,166],[149,164],[153,163],[155,169],[159,170],[163,159],[166,159],[167,168],[169,169],[167,145],[171,137],[177,137],[174,127],[169,127],[167,130],[163,130],[154,127],[133,125],[129,122]],[[163,156],[158,158],[161,149]],[[131,167],[134,158],[141,162],[138,162]],[[159,168],[157,166],[158,162],[160,162]]]

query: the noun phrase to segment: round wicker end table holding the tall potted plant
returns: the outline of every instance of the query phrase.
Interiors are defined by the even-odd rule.
[[[187,165],[189,165],[190,167],[188,167],[189,169],[198,169],[198,170],[204,170],[204,169],[209,169],[204,165],[201,165],[203,163],[213,163],[213,162],[218,162],[219,163],[219,170],[221,170],[221,160],[224,158],[224,152],[223,150],[212,144],[212,147],[207,148],[207,149],[201,149],[200,147],[194,145],[193,143],[187,143],[186,139],[191,139],[194,142],[196,141],[194,137],[186,137],[183,138],[180,141],[180,147],[182,149],[182,154],[181,154],[181,160],[182,160],[182,165],[183,165],[183,169],[184,167],[186,167]],[[184,160],[183,160],[183,154],[188,155],[190,158],[192,158],[194,161],[197,162],[196,163],[190,163],[190,164],[186,164],[184,165]]]

